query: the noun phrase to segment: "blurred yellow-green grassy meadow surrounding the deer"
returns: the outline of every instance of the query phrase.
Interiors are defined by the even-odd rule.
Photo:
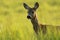
[[[35,2],[41,24],[60,26],[60,0],[0,0],[0,40],[60,40],[60,30],[52,26],[46,35],[35,34],[23,7],[23,3],[33,7]]]

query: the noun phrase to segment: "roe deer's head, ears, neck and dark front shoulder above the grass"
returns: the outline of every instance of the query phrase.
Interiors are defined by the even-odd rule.
[[[38,23],[38,19],[36,17],[36,9],[39,7],[38,2],[35,3],[33,8],[30,8],[26,3],[23,3],[23,6],[25,9],[28,10],[27,18],[31,20],[31,23],[33,25],[33,29],[36,32],[36,34],[39,33],[39,30],[41,29],[43,34],[46,33],[46,25],[42,25]]]

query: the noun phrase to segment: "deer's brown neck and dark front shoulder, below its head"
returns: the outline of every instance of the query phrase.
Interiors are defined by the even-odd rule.
[[[47,30],[46,25],[39,24],[36,16],[35,16],[35,18],[31,19],[31,23],[33,25],[34,31],[37,34],[39,33],[40,29],[42,30],[43,34],[46,33],[46,30]]]

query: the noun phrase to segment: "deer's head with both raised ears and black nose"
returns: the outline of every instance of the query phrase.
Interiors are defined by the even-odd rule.
[[[39,7],[38,2],[35,3],[33,8],[29,7],[26,3],[23,3],[23,6],[25,9],[28,10],[28,15],[27,15],[28,19],[33,19],[36,17],[35,11]]]

